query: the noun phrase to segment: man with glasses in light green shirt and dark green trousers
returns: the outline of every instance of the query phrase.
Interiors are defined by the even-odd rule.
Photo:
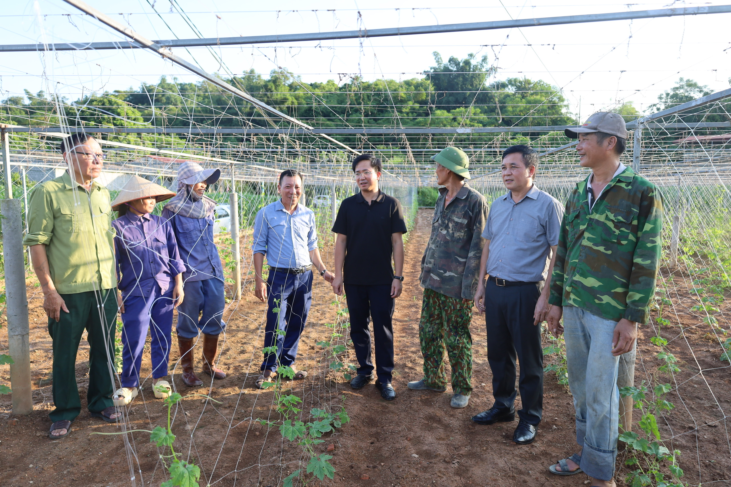
[[[28,208],[33,269],[43,290],[43,309],[53,340],[53,424],[49,437],[65,437],[81,412],[76,353],[84,329],[89,343],[86,402],[92,416],[113,422],[115,321],[118,310],[114,230],[109,191],[94,182],[102,172],[102,147],[87,134],[61,141],[69,166],[37,185]]]

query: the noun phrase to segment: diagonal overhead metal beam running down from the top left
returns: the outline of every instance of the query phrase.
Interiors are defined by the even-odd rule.
[[[194,74],[197,74],[198,76],[202,77],[205,80],[208,80],[209,82],[213,83],[214,85],[218,86],[219,88],[223,88],[224,90],[228,91],[229,93],[232,93],[236,96],[240,96],[244,100],[249,101],[249,103],[253,104],[255,107],[260,108],[260,110],[264,110],[265,112],[270,112],[271,114],[276,115],[276,117],[279,117],[282,120],[285,120],[296,126],[300,126],[303,129],[306,129],[307,131],[312,131],[312,127],[308,126],[306,123],[303,123],[296,118],[290,117],[286,113],[282,113],[279,110],[276,110],[276,108],[274,108],[274,107],[270,107],[268,104],[265,104],[263,101],[255,99],[249,93],[246,93],[245,91],[242,91],[239,88],[236,88],[235,86],[230,85],[229,83],[226,83],[224,80],[221,80],[221,79],[213,76],[213,74],[209,74],[208,72],[205,72],[203,69],[200,69],[200,67],[195,66],[194,64],[191,64],[188,61],[184,60],[183,58],[180,58],[177,55],[173,54],[173,51],[171,51],[170,48],[158,45],[155,42],[151,41],[150,39],[147,39],[146,37],[143,37],[140,34],[137,34],[137,32],[133,31],[132,28],[124,26],[123,24],[117,22],[116,20],[113,20],[108,15],[105,15],[102,12],[99,12],[99,10],[94,9],[93,7],[89,7],[83,1],[80,1],[80,0],[64,0],[64,1],[67,4],[72,5],[73,7],[76,7],[77,9],[80,9],[82,12],[85,12],[86,14],[91,15],[91,17],[96,18],[96,20],[99,20],[99,22],[104,23],[105,25],[113,28],[115,31],[118,31],[120,34],[124,34],[126,37],[129,37],[129,39],[132,39],[133,41],[137,42],[141,46],[146,47],[149,50],[153,50],[154,52],[158,53],[159,55],[162,55],[163,58],[170,59],[170,61],[173,61],[173,63],[178,64],[178,66],[182,66],[183,68],[187,69],[188,71],[190,71]],[[355,154],[360,154],[359,152],[357,152],[357,150],[348,147],[347,145],[343,144],[342,142],[339,142],[336,139],[333,139],[333,137],[329,137],[325,134],[319,134],[319,137],[323,137],[323,138],[329,140],[330,142],[333,142],[333,144],[343,147],[345,150],[348,150],[349,152],[352,152]]]

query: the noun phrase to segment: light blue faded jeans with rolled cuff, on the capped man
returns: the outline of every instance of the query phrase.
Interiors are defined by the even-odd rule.
[[[616,321],[564,306],[564,340],[569,388],[576,410],[576,442],[583,447],[581,469],[611,480],[619,435],[619,357],[612,355]]]

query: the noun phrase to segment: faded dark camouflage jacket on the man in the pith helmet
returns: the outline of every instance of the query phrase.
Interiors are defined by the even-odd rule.
[[[488,202],[465,184],[444,208],[447,188],[439,192],[431,237],[421,259],[421,287],[452,298],[473,299],[485,244],[482,229],[488,218]]]

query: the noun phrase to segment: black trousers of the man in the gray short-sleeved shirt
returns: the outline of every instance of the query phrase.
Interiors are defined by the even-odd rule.
[[[543,412],[543,350],[541,326],[533,314],[543,283],[485,285],[485,322],[488,330],[488,362],[493,371],[494,407],[511,410],[515,402],[515,357],[520,362],[521,419],[536,426]]]

